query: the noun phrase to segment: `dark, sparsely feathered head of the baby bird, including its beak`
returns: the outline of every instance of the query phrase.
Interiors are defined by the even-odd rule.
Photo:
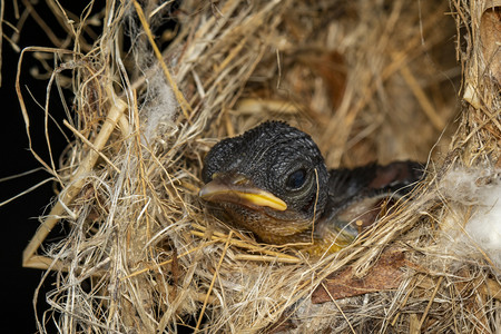
[[[285,122],[264,122],[208,153],[200,197],[267,243],[306,233],[324,210],[328,174],[318,147]]]

